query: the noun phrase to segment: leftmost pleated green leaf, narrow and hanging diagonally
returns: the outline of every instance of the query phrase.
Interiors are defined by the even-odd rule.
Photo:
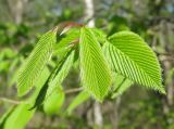
[[[35,85],[41,70],[51,57],[55,41],[55,31],[48,31],[40,37],[37,46],[20,72],[17,83],[18,95],[26,94],[27,91]]]

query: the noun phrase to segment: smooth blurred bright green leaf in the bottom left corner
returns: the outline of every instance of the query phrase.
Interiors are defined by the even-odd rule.
[[[29,104],[17,105],[13,113],[7,118],[3,129],[24,129],[35,111],[28,111]]]

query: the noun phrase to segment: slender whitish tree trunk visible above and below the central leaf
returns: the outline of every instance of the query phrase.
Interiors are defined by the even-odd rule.
[[[94,0],[85,0],[85,20],[88,21],[88,27],[95,27],[95,9],[94,9]],[[102,128],[102,113],[101,105],[98,102],[94,103],[94,122],[98,128]]]

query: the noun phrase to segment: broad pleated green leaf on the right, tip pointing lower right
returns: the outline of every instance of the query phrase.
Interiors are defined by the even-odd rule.
[[[158,59],[148,44],[136,34],[121,31],[109,37],[104,44],[111,67],[141,86],[165,93]]]

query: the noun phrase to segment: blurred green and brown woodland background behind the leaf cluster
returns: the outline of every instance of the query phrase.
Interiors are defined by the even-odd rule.
[[[85,1],[0,0],[0,117],[21,101],[16,73],[40,35],[65,21],[86,24]],[[50,116],[39,108],[26,129],[174,129],[174,0],[94,0],[92,4],[96,27],[109,35],[132,30],[149,43],[161,63],[167,94],[133,86],[117,99],[102,104],[89,100],[64,115],[77,94],[67,93],[62,112]],[[78,70],[72,68],[64,90],[79,83]]]

